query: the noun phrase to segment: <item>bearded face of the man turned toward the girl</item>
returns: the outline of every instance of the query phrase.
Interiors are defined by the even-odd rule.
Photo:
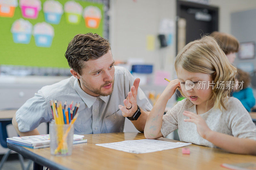
[[[113,92],[114,74],[114,60],[109,50],[102,57],[85,62],[80,75],[81,88],[92,96],[108,96]]]

